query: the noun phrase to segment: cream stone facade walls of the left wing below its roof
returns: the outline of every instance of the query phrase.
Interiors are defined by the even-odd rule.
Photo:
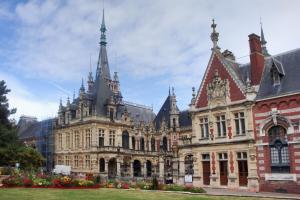
[[[99,146],[99,130],[104,130],[104,146]],[[171,158],[171,145],[168,145],[167,152],[161,152],[160,141],[163,134],[154,132],[145,134],[145,126],[135,126],[130,122],[113,121],[102,119],[87,119],[83,122],[71,122],[71,125],[58,127],[55,130],[55,163],[71,166],[71,171],[77,174],[94,173],[108,176],[108,163],[111,159],[117,161],[117,176],[122,174],[124,163],[129,164],[128,173],[133,176],[133,162],[141,163],[141,176],[146,176],[146,163],[151,162],[152,174],[164,177],[164,160]],[[115,131],[115,142],[110,143],[110,131]],[[129,133],[129,148],[122,147],[122,133]],[[91,134],[89,142],[86,137]],[[79,135],[79,145],[76,146],[75,135]],[[102,134],[102,132],[101,132]],[[67,136],[69,135],[69,136]],[[171,134],[165,133],[168,143],[171,141]],[[132,137],[135,138],[135,149],[133,149]],[[144,150],[141,149],[141,138],[144,138]],[[151,138],[155,138],[155,149],[151,149]],[[69,141],[67,141],[69,138]],[[88,145],[90,144],[90,145]],[[78,164],[75,161],[78,156]],[[105,171],[100,172],[100,159],[105,160]],[[126,161],[126,162],[125,162]],[[159,163],[159,164],[158,164]]]

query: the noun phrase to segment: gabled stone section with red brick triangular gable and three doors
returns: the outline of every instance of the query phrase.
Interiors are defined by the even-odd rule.
[[[221,52],[215,28],[213,23],[212,53],[190,105],[191,143],[178,147],[180,168],[184,169],[180,182],[257,191],[252,118],[256,88],[234,55]]]

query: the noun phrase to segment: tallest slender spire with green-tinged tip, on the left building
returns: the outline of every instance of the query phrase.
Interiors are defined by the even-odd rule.
[[[106,51],[106,26],[104,19],[104,9],[102,13],[102,23],[100,27],[101,37],[100,37],[100,52],[97,64],[97,73],[96,79],[101,75],[103,78],[111,80],[110,70],[107,59],[107,51]]]

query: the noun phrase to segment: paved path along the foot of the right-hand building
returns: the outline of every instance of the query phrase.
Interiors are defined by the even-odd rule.
[[[213,188],[204,188],[204,189],[206,190],[208,195],[300,200],[300,194],[286,194],[286,193],[275,193],[275,192],[248,192],[248,191],[241,191],[241,190],[213,189]]]

